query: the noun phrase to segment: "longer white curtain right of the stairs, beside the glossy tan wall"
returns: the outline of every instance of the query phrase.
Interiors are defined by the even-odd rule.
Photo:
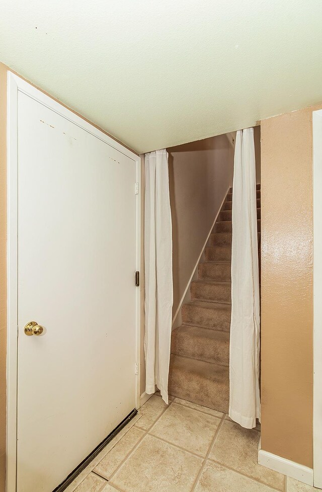
[[[232,187],[229,417],[252,429],[260,419],[260,295],[254,129],[238,131]]]

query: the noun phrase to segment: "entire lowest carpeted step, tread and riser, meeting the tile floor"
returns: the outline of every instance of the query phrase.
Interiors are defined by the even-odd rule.
[[[179,355],[170,358],[169,393],[227,413],[229,368]]]

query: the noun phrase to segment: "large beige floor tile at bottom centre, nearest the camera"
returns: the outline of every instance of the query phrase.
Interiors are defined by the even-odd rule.
[[[190,492],[203,460],[146,435],[111,479],[124,492]]]

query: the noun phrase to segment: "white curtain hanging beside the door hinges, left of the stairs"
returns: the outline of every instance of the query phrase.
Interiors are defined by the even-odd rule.
[[[173,283],[168,152],[145,154],[145,392],[168,404]]]

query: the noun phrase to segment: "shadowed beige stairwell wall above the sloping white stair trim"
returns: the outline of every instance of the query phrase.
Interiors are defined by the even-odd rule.
[[[233,148],[226,136],[220,135],[168,151],[175,314],[220,204],[231,186]]]

